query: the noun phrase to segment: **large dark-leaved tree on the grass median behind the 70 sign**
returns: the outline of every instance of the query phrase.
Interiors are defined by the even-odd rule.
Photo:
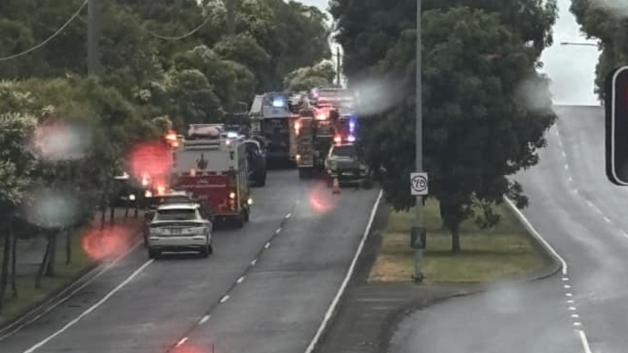
[[[507,194],[524,207],[521,186],[508,175],[538,162],[544,132],[555,121],[548,82],[534,70],[536,52],[499,15],[470,8],[423,14],[423,144],[430,191],[460,251],[460,223],[479,208],[484,225],[497,221],[491,204]],[[414,92],[416,31],[407,30],[374,72]],[[383,166],[387,200],[414,205],[408,175],[414,165],[414,95],[405,94],[379,121],[367,122],[365,154]],[[486,222],[489,220],[488,222]]]

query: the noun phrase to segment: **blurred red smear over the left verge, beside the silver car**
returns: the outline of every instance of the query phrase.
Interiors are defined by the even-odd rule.
[[[81,249],[94,260],[103,260],[125,253],[131,247],[133,232],[122,225],[108,225],[87,230],[81,238]]]

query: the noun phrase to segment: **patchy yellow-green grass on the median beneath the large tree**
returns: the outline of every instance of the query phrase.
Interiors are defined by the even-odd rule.
[[[548,261],[534,245],[531,236],[511,210],[503,205],[497,227],[480,229],[472,220],[462,224],[462,252],[451,253],[451,236],[441,229],[436,201],[427,202],[425,226],[428,229],[423,273],[426,281],[441,283],[480,283],[539,269]],[[369,281],[411,281],[413,251],[409,248],[411,212],[390,212],[382,247],[371,269]]]

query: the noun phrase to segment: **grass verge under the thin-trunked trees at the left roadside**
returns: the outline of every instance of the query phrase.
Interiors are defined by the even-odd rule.
[[[35,274],[18,276],[16,278],[18,298],[11,298],[13,293],[10,286],[7,288],[3,299],[4,309],[2,315],[0,315],[0,325],[19,317],[19,315],[24,313],[24,310],[28,310],[28,308],[36,305],[36,303],[46,298],[46,295],[49,293],[67,286],[78,274],[93,263],[81,250],[80,232],[78,231],[72,236],[72,261],[70,264],[65,264],[65,243],[57,244],[55,260],[57,275],[52,278],[43,277],[40,289],[35,289]]]

